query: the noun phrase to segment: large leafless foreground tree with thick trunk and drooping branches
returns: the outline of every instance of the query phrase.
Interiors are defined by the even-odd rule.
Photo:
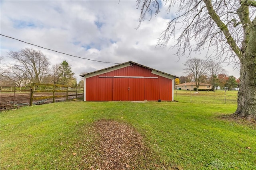
[[[256,119],[256,1],[255,0],[166,0],[168,12],[178,5],[175,18],[159,38],[167,45],[175,31],[183,31],[174,47],[178,57],[186,51],[208,49],[208,57],[240,64],[238,106],[234,115]],[[138,0],[140,23],[150,8],[159,12],[157,0]],[[193,43],[196,43],[193,45]],[[211,51],[211,49],[214,49]]]

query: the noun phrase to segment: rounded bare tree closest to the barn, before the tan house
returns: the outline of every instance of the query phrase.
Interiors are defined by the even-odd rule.
[[[185,72],[193,76],[194,82],[196,83],[196,91],[198,92],[200,83],[202,83],[206,77],[207,61],[193,58],[188,59],[183,65],[186,66],[186,68],[184,68]]]

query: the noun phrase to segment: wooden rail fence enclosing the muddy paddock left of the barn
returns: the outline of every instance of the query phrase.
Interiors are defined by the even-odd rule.
[[[0,110],[84,98],[84,88],[60,84],[0,86]]]

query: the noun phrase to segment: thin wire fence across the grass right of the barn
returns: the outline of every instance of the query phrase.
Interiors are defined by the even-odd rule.
[[[237,93],[236,90],[216,90],[215,92],[175,90],[174,100],[197,104],[237,104]]]

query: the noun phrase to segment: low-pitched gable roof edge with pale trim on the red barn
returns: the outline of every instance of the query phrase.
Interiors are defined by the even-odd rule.
[[[106,72],[118,70],[118,69],[124,68],[124,67],[126,67],[126,66],[130,66],[131,64],[136,64],[136,65],[138,65],[138,66],[142,66],[142,67],[144,67],[144,68],[148,68],[148,69],[150,69],[150,70],[152,70],[152,71],[154,71],[154,72],[157,72],[158,74],[163,74],[163,76],[171,76],[171,77],[173,77],[173,78],[178,78],[177,76],[174,76],[174,75],[172,75],[172,74],[168,74],[168,73],[165,73],[165,72],[156,70],[156,69],[154,69],[154,68],[150,68],[150,67],[148,67],[148,66],[144,66],[144,65],[142,65],[142,64],[135,63],[135,62],[133,62],[133,61],[128,61],[128,62],[126,62],[126,63],[117,64],[117,65],[115,65],[115,66],[110,66],[110,67],[108,67],[108,68],[103,68],[103,69],[101,69],[101,70],[89,72],[89,73],[86,73],[86,74],[82,74],[82,75],[80,75],[80,76],[82,76],[82,77],[96,76],[96,75],[103,74],[103,73],[106,73]],[[91,75],[90,75],[90,74],[91,74]]]

